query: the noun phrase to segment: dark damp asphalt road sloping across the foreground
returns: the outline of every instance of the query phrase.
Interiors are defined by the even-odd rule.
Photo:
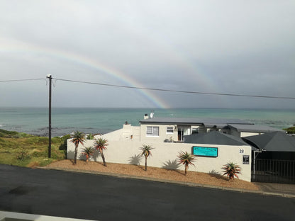
[[[0,164],[0,210],[88,220],[295,220],[295,199]]]

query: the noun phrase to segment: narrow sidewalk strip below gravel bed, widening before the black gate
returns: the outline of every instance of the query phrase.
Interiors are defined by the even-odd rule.
[[[260,187],[260,191],[251,191],[241,188],[229,188],[223,186],[213,186],[201,183],[188,183],[188,182],[181,182],[181,181],[171,181],[165,179],[155,179],[145,176],[130,176],[124,174],[113,174],[113,173],[106,173],[106,172],[99,172],[99,171],[88,171],[88,170],[81,170],[81,169],[65,169],[65,168],[45,168],[45,167],[38,167],[38,169],[52,169],[52,170],[62,170],[62,171],[71,171],[76,173],[85,173],[85,174],[98,174],[103,176],[116,176],[123,179],[140,179],[146,181],[155,181],[155,182],[162,182],[162,183],[174,183],[184,186],[195,186],[195,187],[203,187],[203,188],[216,188],[223,191],[236,191],[240,193],[258,193],[267,196],[281,196],[286,198],[295,198],[295,184],[281,184],[281,183],[257,183],[255,184]]]

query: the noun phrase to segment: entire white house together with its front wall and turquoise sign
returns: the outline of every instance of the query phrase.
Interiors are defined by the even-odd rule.
[[[200,119],[200,118],[155,118],[145,115],[140,126],[128,123],[123,128],[105,135],[96,135],[108,140],[108,149],[104,152],[107,162],[121,164],[142,164],[139,148],[151,145],[150,166],[175,169],[179,151],[196,155],[196,167],[191,171],[221,173],[221,167],[233,162],[242,168],[240,179],[251,180],[252,147],[240,137],[259,135],[275,131],[274,128],[257,126],[245,120],[237,119]],[[94,140],[87,140],[84,147],[90,147]],[[78,159],[84,159],[79,147]],[[67,158],[74,158],[74,144],[67,142]],[[101,161],[96,154],[90,160]]]

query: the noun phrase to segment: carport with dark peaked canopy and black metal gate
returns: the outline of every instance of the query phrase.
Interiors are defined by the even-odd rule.
[[[295,183],[295,137],[284,132],[243,137],[252,151],[252,181]]]

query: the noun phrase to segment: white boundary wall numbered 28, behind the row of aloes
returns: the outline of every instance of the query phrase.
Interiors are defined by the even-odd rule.
[[[84,147],[93,145],[94,140],[87,140]],[[108,146],[104,155],[106,162],[120,163],[120,164],[136,164],[140,158],[140,147],[144,145],[152,145],[152,157],[147,159],[147,166],[165,167],[175,169],[177,167],[177,155],[179,151],[187,151],[191,153],[192,146],[199,147],[218,147],[218,157],[196,157],[196,166],[189,166],[189,171],[199,171],[209,173],[210,171],[222,172],[221,167],[228,162],[233,162],[240,165],[242,174],[239,178],[245,181],[251,181],[251,147],[250,146],[226,146],[226,145],[193,145],[184,143],[165,143],[165,142],[139,142],[139,141],[108,141]],[[80,155],[84,148],[79,145],[78,159],[85,159]],[[243,154],[249,155],[250,164],[243,164]],[[67,158],[74,158],[74,144],[67,140]],[[101,162],[101,156],[96,152],[94,157],[90,160]],[[144,157],[141,157],[140,165],[145,164]],[[178,169],[184,170],[184,166],[179,166]]]

